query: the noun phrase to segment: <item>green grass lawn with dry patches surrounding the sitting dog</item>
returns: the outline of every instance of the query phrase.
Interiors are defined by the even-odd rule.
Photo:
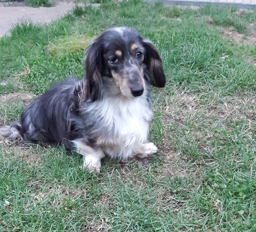
[[[0,231],[256,231],[256,11],[103,1],[22,22],[0,39],[0,125],[82,77],[84,48],[111,26],[137,29],[161,53],[158,154],[91,174],[63,147],[1,139]]]

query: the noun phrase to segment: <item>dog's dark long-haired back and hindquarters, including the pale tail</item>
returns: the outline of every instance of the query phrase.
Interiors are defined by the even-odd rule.
[[[0,129],[0,135],[28,143],[68,147],[69,114],[78,108],[80,84],[75,78],[56,84],[23,110],[19,122]]]

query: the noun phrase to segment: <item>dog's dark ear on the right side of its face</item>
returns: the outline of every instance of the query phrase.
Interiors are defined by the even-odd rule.
[[[143,47],[146,50],[145,63],[148,68],[149,82],[156,87],[164,87],[166,77],[164,74],[162,59],[154,44],[147,38],[142,39]]]

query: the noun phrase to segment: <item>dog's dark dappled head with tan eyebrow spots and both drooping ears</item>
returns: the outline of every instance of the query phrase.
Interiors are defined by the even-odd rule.
[[[131,28],[110,28],[94,39],[85,50],[84,65],[84,101],[100,99],[102,76],[114,78],[128,98],[142,95],[145,81],[156,87],[165,86],[166,77],[156,47]]]

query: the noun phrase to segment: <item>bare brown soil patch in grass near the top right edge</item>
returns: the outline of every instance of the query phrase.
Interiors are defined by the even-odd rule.
[[[251,24],[248,29],[248,35],[238,33],[233,27],[220,27],[220,33],[224,38],[229,38],[235,41],[239,46],[255,45],[256,44],[256,29],[255,25]]]

